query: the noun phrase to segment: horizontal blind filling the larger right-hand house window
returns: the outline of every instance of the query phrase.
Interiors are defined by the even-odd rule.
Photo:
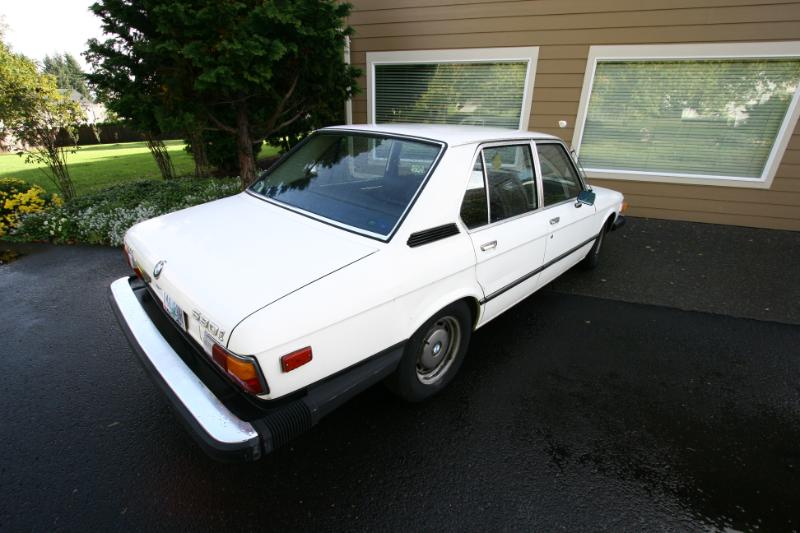
[[[800,59],[599,61],[587,169],[760,178]]]

